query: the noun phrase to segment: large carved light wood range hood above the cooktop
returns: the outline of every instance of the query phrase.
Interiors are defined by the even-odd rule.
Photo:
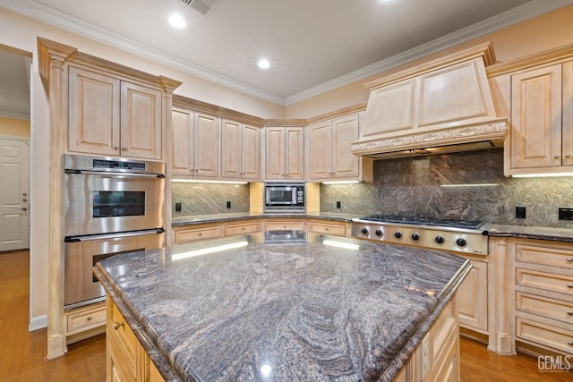
[[[495,113],[485,72],[494,62],[488,42],[367,83],[353,154],[380,159],[502,147],[508,123]]]

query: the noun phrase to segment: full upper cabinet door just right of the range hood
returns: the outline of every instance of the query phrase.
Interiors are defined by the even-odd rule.
[[[511,80],[511,167],[561,166],[561,65]]]

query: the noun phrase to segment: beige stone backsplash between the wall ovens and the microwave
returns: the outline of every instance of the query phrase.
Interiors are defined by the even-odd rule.
[[[248,184],[172,183],[171,195],[173,216],[249,212]],[[180,212],[175,203],[181,203]]]

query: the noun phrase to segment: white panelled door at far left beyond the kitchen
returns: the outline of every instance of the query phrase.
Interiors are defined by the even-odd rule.
[[[0,251],[30,248],[29,145],[0,139]]]

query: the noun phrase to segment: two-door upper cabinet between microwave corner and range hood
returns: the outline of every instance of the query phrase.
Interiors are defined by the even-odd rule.
[[[309,125],[309,182],[372,180],[372,159],[355,157],[350,150],[358,139],[359,119],[352,114]]]

